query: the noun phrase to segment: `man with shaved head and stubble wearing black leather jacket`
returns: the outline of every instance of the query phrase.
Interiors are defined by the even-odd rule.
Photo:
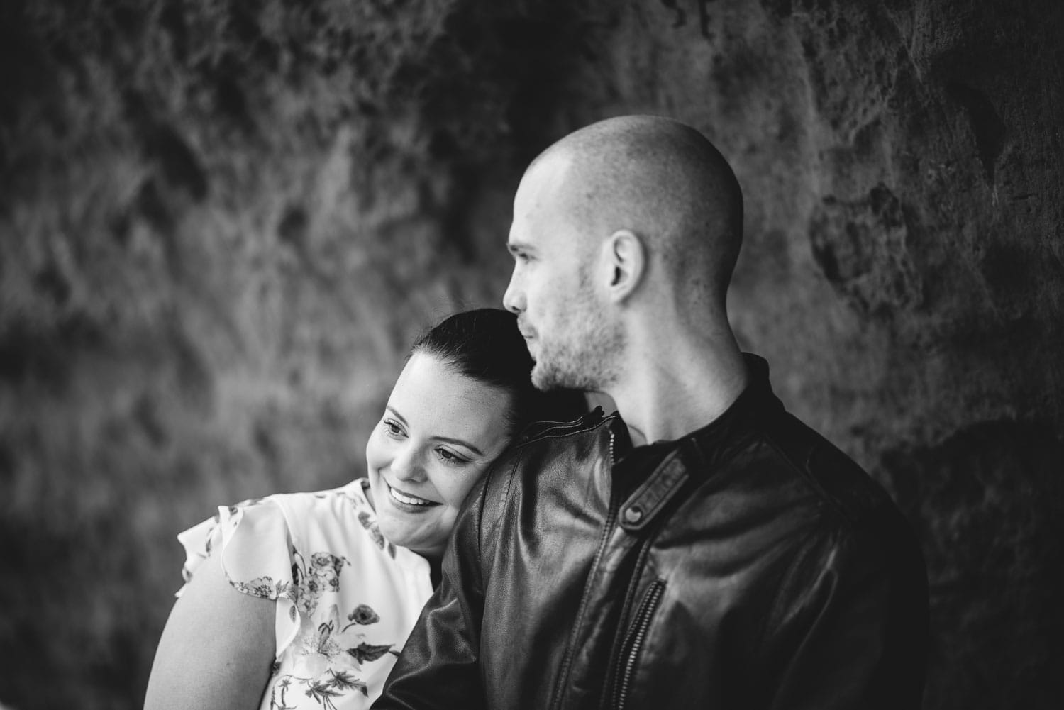
[[[728,163],[665,118],[532,163],[503,303],[538,387],[618,413],[534,426],[473,490],[375,708],[920,707],[918,545],[739,351],[742,222]]]

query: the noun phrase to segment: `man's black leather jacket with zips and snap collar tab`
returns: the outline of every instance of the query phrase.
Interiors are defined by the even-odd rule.
[[[919,708],[914,536],[747,363],[732,407],[656,456],[600,413],[505,455],[373,707]],[[660,463],[626,470],[641,453]]]

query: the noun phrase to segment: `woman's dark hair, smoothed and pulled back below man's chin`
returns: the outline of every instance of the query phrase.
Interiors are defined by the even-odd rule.
[[[587,411],[579,392],[541,392],[532,385],[533,361],[517,329],[517,316],[509,311],[455,313],[419,337],[408,360],[417,352],[439,358],[456,373],[510,394],[511,433],[531,422],[570,422]]]

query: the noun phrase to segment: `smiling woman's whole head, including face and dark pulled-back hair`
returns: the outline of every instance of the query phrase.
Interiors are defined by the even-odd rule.
[[[459,508],[513,436],[584,413],[579,393],[536,390],[532,364],[516,316],[498,309],[453,315],[414,344],[366,445],[387,540],[438,565]]]

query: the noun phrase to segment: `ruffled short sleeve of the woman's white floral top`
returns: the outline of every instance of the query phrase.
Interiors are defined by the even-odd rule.
[[[275,655],[280,658],[299,630],[299,590],[293,579],[296,550],[281,507],[268,498],[219,507],[217,515],[181,532],[178,541],[185,548],[181,569],[185,585],[207,556],[219,554],[233,589],[277,601]]]

